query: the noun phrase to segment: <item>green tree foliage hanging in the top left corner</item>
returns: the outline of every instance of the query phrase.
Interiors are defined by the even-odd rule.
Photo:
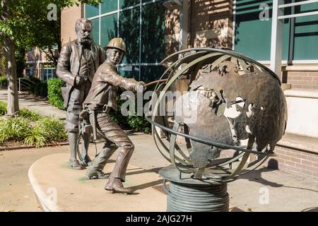
[[[16,47],[40,47],[47,58],[57,64],[58,54],[54,52],[57,46],[61,50],[61,10],[82,3],[97,5],[101,0],[10,0],[8,11],[11,17],[0,20],[0,36],[9,35]],[[48,20],[52,10],[48,6],[57,6],[57,20]],[[2,8],[0,6],[0,14]],[[0,37],[1,40],[1,37]]]

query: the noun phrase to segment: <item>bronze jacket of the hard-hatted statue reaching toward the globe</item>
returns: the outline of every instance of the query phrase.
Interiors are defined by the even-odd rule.
[[[136,86],[139,82],[134,78],[124,78],[117,72],[117,67],[110,62],[105,61],[100,65],[93,78],[93,83],[90,88],[84,105],[90,108],[112,107],[117,110],[117,88],[123,88],[129,91],[136,91]]]

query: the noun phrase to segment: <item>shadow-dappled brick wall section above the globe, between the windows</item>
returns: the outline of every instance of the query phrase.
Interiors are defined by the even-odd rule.
[[[187,47],[232,48],[232,0],[189,1]],[[179,50],[179,9],[167,8],[165,15],[165,54]]]

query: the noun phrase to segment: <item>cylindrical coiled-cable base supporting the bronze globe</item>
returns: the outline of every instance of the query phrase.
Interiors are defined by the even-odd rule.
[[[228,212],[230,198],[227,183],[208,183],[191,177],[180,178],[177,169],[167,167],[160,175],[170,181],[167,212]],[[180,176],[180,175],[179,175]],[[164,184],[165,186],[165,184]]]

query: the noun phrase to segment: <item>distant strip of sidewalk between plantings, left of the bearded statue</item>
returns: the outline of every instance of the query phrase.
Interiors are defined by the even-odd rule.
[[[0,101],[7,102],[7,93],[7,90],[0,90]],[[39,112],[40,114],[57,117],[59,119],[65,119],[66,117],[65,111],[57,109],[56,107],[52,107],[52,105],[49,105],[49,102],[47,101],[36,100],[32,95],[26,95],[25,93],[19,95],[19,107],[32,109]]]

